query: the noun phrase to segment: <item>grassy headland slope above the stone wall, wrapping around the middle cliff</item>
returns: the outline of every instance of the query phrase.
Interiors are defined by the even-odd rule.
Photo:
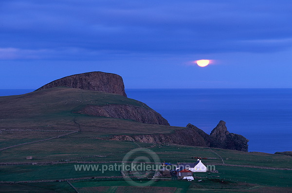
[[[151,125],[79,114],[87,105],[146,104],[119,94],[76,88],[50,88],[15,96],[0,97],[0,129],[79,130],[109,134],[171,132],[179,127]]]

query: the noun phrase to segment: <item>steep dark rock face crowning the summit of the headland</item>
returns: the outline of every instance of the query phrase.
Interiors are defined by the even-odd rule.
[[[54,87],[71,87],[84,90],[96,90],[120,94],[127,97],[124,82],[121,76],[100,71],[66,76],[64,78],[50,82],[41,88],[38,88],[37,90]]]

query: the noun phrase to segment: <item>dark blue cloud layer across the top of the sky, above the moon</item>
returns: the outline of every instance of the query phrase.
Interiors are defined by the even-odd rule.
[[[290,0],[1,1],[0,53],[13,59],[277,52],[292,47],[291,20]]]

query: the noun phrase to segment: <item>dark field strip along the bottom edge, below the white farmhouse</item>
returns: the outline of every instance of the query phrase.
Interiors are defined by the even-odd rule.
[[[127,192],[144,192],[145,187],[133,187],[129,185],[125,181],[80,181],[80,182],[72,182],[73,186],[77,188],[78,192],[85,193],[85,192],[93,192],[94,188],[101,188],[105,189],[106,191],[109,191],[110,189],[114,189],[116,192],[119,191],[119,189],[124,189],[125,187],[128,187]],[[249,184],[244,182],[237,182],[233,180],[227,180],[227,179],[203,179],[202,181],[194,180],[194,181],[185,181],[185,180],[160,180],[157,182],[153,182],[151,184],[151,189],[146,189],[146,191],[155,192],[160,190],[162,187],[164,188],[164,191],[167,192],[204,192],[204,191],[222,191],[222,192],[249,192],[250,190],[258,191],[257,189],[260,189],[259,192],[262,192],[262,187],[265,188],[265,191],[269,192],[269,190],[274,190],[273,187],[269,186],[262,186],[257,184]],[[146,187],[149,188],[149,187]],[[170,188],[170,189],[167,189]],[[96,190],[96,189],[95,189]],[[163,189],[162,189],[163,190]],[[277,189],[279,190],[292,190],[291,188],[285,188],[281,187]]]

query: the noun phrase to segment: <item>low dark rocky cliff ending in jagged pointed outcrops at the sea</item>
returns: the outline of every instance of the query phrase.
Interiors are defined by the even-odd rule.
[[[174,133],[154,135],[121,135],[113,136],[112,140],[133,140],[147,143],[173,143],[180,145],[215,147],[248,151],[248,140],[241,135],[229,133],[225,122],[220,121],[211,135],[206,134],[198,127],[188,124],[187,129],[178,129]]]

